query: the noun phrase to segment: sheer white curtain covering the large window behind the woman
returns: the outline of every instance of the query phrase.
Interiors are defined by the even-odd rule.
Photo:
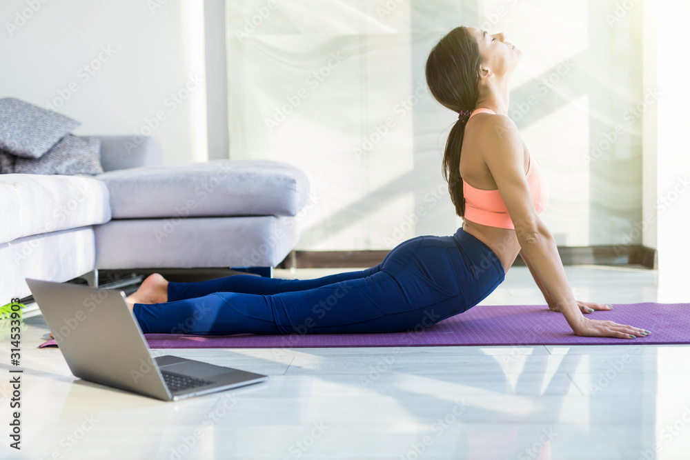
[[[509,114],[551,185],[542,219],[560,245],[620,243],[642,207],[641,121],[626,116],[643,97],[642,19],[611,22],[615,4],[228,0],[230,157],[307,172],[297,249],[453,234],[441,159],[456,115],[428,93],[424,62],[455,26],[504,31],[524,53]]]

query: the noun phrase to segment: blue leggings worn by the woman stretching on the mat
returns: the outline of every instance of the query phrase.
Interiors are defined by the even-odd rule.
[[[373,268],[316,279],[238,274],[169,283],[168,302],[135,303],[144,333],[342,334],[428,328],[480,303],[505,279],[496,254],[459,228],[408,239]]]

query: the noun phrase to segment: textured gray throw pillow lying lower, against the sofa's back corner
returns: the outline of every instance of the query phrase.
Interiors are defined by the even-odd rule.
[[[101,174],[101,139],[68,134],[38,159],[14,161],[15,174]]]

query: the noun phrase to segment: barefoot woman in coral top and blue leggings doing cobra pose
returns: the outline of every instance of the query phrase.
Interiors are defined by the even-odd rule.
[[[464,219],[453,236],[409,239],[373,268],[318,279],[235,275],[168,283],[152,274],[128,297],[141,329],[190,334],[420,330],[477,305],[502,283],[520,253],[549,308],[562,312],[575,334],[624,339],[649,334],[586,319],[582,313],[610,307],[573,298],[553,237],[538,217],[548,188],[506,116],[510,77],[521,57],[505,34],[458,27],[426,61],[431,93],[460,114],[443,159],[451,199]]]

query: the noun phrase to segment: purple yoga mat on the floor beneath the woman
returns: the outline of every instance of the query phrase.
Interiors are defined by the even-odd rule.
[[[613,303],[586,314],[651,331],[647,337],[578,337],[562,314],[545,305],[475,306],[417,332],[379,334],[145,334],[150,348],[308,348],[462,345],[620,345],[690,343],[690,303]],[[55,340],[39,348],[56,346]]]

